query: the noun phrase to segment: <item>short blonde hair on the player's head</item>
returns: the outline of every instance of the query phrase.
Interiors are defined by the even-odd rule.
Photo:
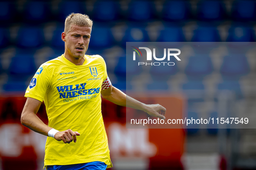
[[[92,27],[92,20],[89,16],[81,13],[71,13],[65,20],[64,32],[68,33],[72,25]]]

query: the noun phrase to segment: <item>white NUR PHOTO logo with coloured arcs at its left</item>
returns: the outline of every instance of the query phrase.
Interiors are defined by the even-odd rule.
[[[136,47],[134,47],[134,48],[136,48]],[[147,59],[147,61],[152,61],[152,51],[148,47],[139,47],[139,49],[146,50],[146,54],[147,54],[146,59]],[[133,51],[133,60],[136,60],[136,52],[139,56],[140,55],[142,56],[142,53],[139,49],[138,48],[133,49],[133,50],[135,50],[135,51]],[[177,51],[178,53],[171,53],[171,51]],[[180,54],[181,54],[181,50],[179,50],[177,48],[168,48],[167,49],[167,60],[170,61],[170,57],[173,56],[173,57],[176,58],[176,60],[181,61],[181,59],[178,57],[178,55],[180,55]],[[162,58],[156,57],[156,49],[153,48],[153,58],[154,58],[154,60],[157,60],[157,61],[165,60],[165,58],[166,58],[166,48],[164,48],[164,56]],[[167,62],[161,62],[161,63],[163,63],[163,65],[165,65],[165,63],[167,63]],[[160,66],[161,63],[159,63],[159,62],[146,63],[146,65],[151,65],[152,66],[152,64],[153,64],[154,66]],[[145,64],[145,63],[144,62],[138,62],[138,65],[143,65],[143,64]],[[175,63],[169,62],[166,65],[174,66]]]

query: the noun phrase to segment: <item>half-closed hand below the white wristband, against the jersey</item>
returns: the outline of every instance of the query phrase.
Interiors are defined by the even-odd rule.
[[[74,142],[76,142],[76,136],[79,136],[80,133],[78,132],[73,132],[72,130],[68,129],[62,132],[57,132],[54,135],[54,139],[56,139],[57,141],[63,141],[64,143],[70,143],[73,141],[74,138]]]

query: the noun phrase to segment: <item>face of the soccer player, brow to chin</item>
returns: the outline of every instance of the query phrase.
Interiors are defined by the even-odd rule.
[[[65,41],[65,48],[72,58],[84,57],[88,49],[91,37],[91,27],[72,25],[70,30],[62,32],[62,40]]]

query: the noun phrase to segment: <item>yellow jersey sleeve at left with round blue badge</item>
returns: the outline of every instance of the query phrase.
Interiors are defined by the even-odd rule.
[[[47,67],[44,64],[41,65],[32,80],[29,82],[29,87],[26,89],[25,97],[34,98],[42,102],[51,82],[49,75]]]

